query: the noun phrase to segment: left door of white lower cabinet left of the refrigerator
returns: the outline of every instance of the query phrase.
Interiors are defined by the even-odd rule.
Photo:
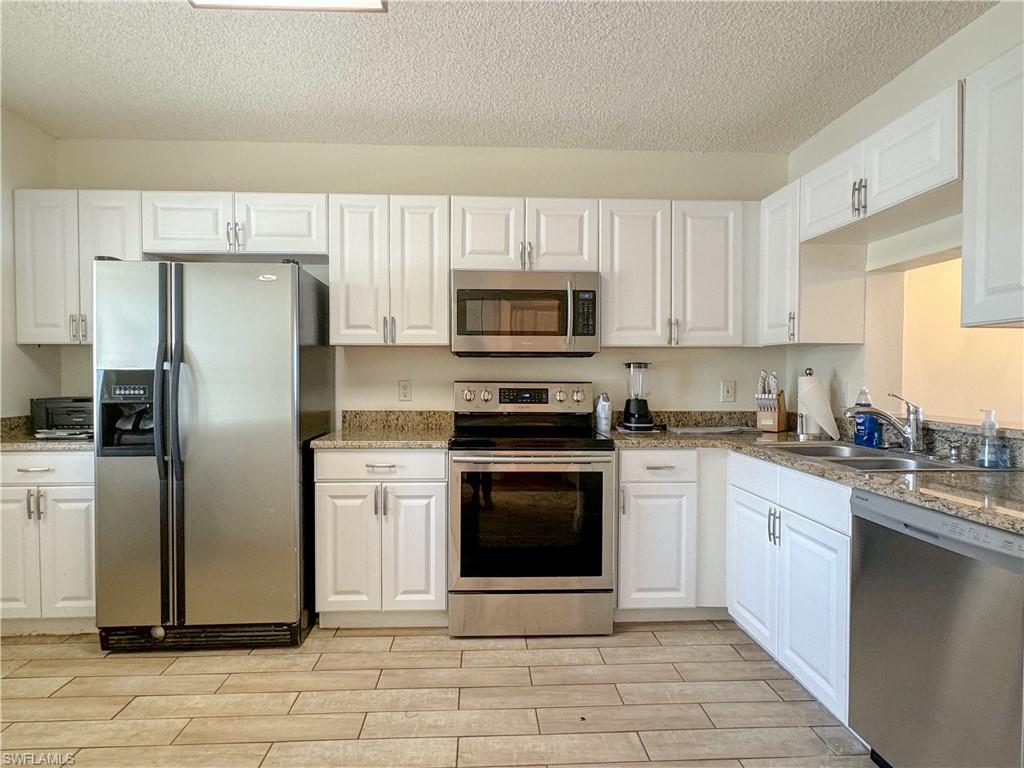
[[[39,617],[39,525],[29,517],[35,490],[0,486],[0,618]]]

